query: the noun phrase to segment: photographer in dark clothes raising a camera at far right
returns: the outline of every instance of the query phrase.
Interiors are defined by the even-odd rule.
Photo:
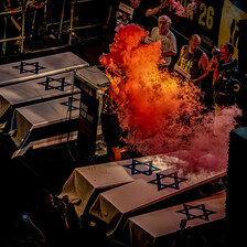
[[[221,50],[214,47],[212,54],[207,71],[214,72],[212,83],[214,105],[221,109],[237,104],[240,93],[238,64],[237,60],[233,58],[234,46],[230,43],[223,44]]]

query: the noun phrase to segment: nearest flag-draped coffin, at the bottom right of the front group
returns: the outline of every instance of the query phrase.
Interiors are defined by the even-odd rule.
[[[175,233],[182,219],[196,227],[225,217],[225,191],[176,206],[130,217],[126,224],[131,246],[165,246],[165,235]],[[170,246],[170,245],[169,245]]]

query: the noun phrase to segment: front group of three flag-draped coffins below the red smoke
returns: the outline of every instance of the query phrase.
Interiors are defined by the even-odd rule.
[[[225,217],[224,186],[207,197],[187,193],[222,180],[226,171],[184,173],[185,162],[168,153],[76,168],[60,196],[68,196],[83,224],[98,224],[108,237],[125,236],[128,246],[171,246],[165,237],[181,222],[210,226]]]

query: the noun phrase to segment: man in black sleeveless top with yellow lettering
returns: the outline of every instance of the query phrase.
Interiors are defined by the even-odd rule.
[[[193,34],[189,41],[189,45],[182,46],[180,51],[180,58],[174,66],[174,71],[182,73],[184,72],[187,79],[201,88],[201,80],[208,75],[208,57],[206,53],[200,49],[200,35]]]

